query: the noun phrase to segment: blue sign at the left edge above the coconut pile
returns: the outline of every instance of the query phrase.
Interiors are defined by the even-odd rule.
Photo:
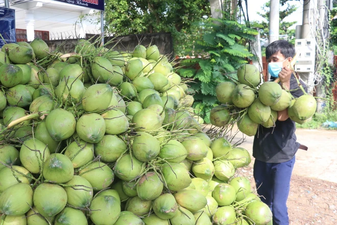
[[[15,10],[0,7],[0,47],[6,43],[15,43]]]

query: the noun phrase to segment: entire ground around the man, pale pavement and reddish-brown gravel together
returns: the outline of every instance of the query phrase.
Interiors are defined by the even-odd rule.
[[[299,149],[288,197],[291,225],[337,224],[337,131],[297,129]],[[238,140],[239,138],[235,138]],[[252,153],[253,137],[240,147]],[[254,183],[254,159],[242,172]]]

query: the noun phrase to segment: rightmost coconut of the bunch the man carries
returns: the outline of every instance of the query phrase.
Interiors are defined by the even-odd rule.
[[[314,97],[310,95],[302,95],[296,99],[294,105],[292,106],[292,110],[298,119],[307,120],[314,116],[316,107],[317,102]]]

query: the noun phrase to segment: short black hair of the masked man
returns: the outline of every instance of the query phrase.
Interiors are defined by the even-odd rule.
[[[286,40],[276,40],[266,49],[266,58],[269,59],[275,53],[280,52],[285,58],[295,56],[295,47]]]

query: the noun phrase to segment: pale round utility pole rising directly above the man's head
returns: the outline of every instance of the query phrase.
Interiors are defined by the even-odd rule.
[[[278,40],[280,29],[280,0],[270,0],[269,43]]]

